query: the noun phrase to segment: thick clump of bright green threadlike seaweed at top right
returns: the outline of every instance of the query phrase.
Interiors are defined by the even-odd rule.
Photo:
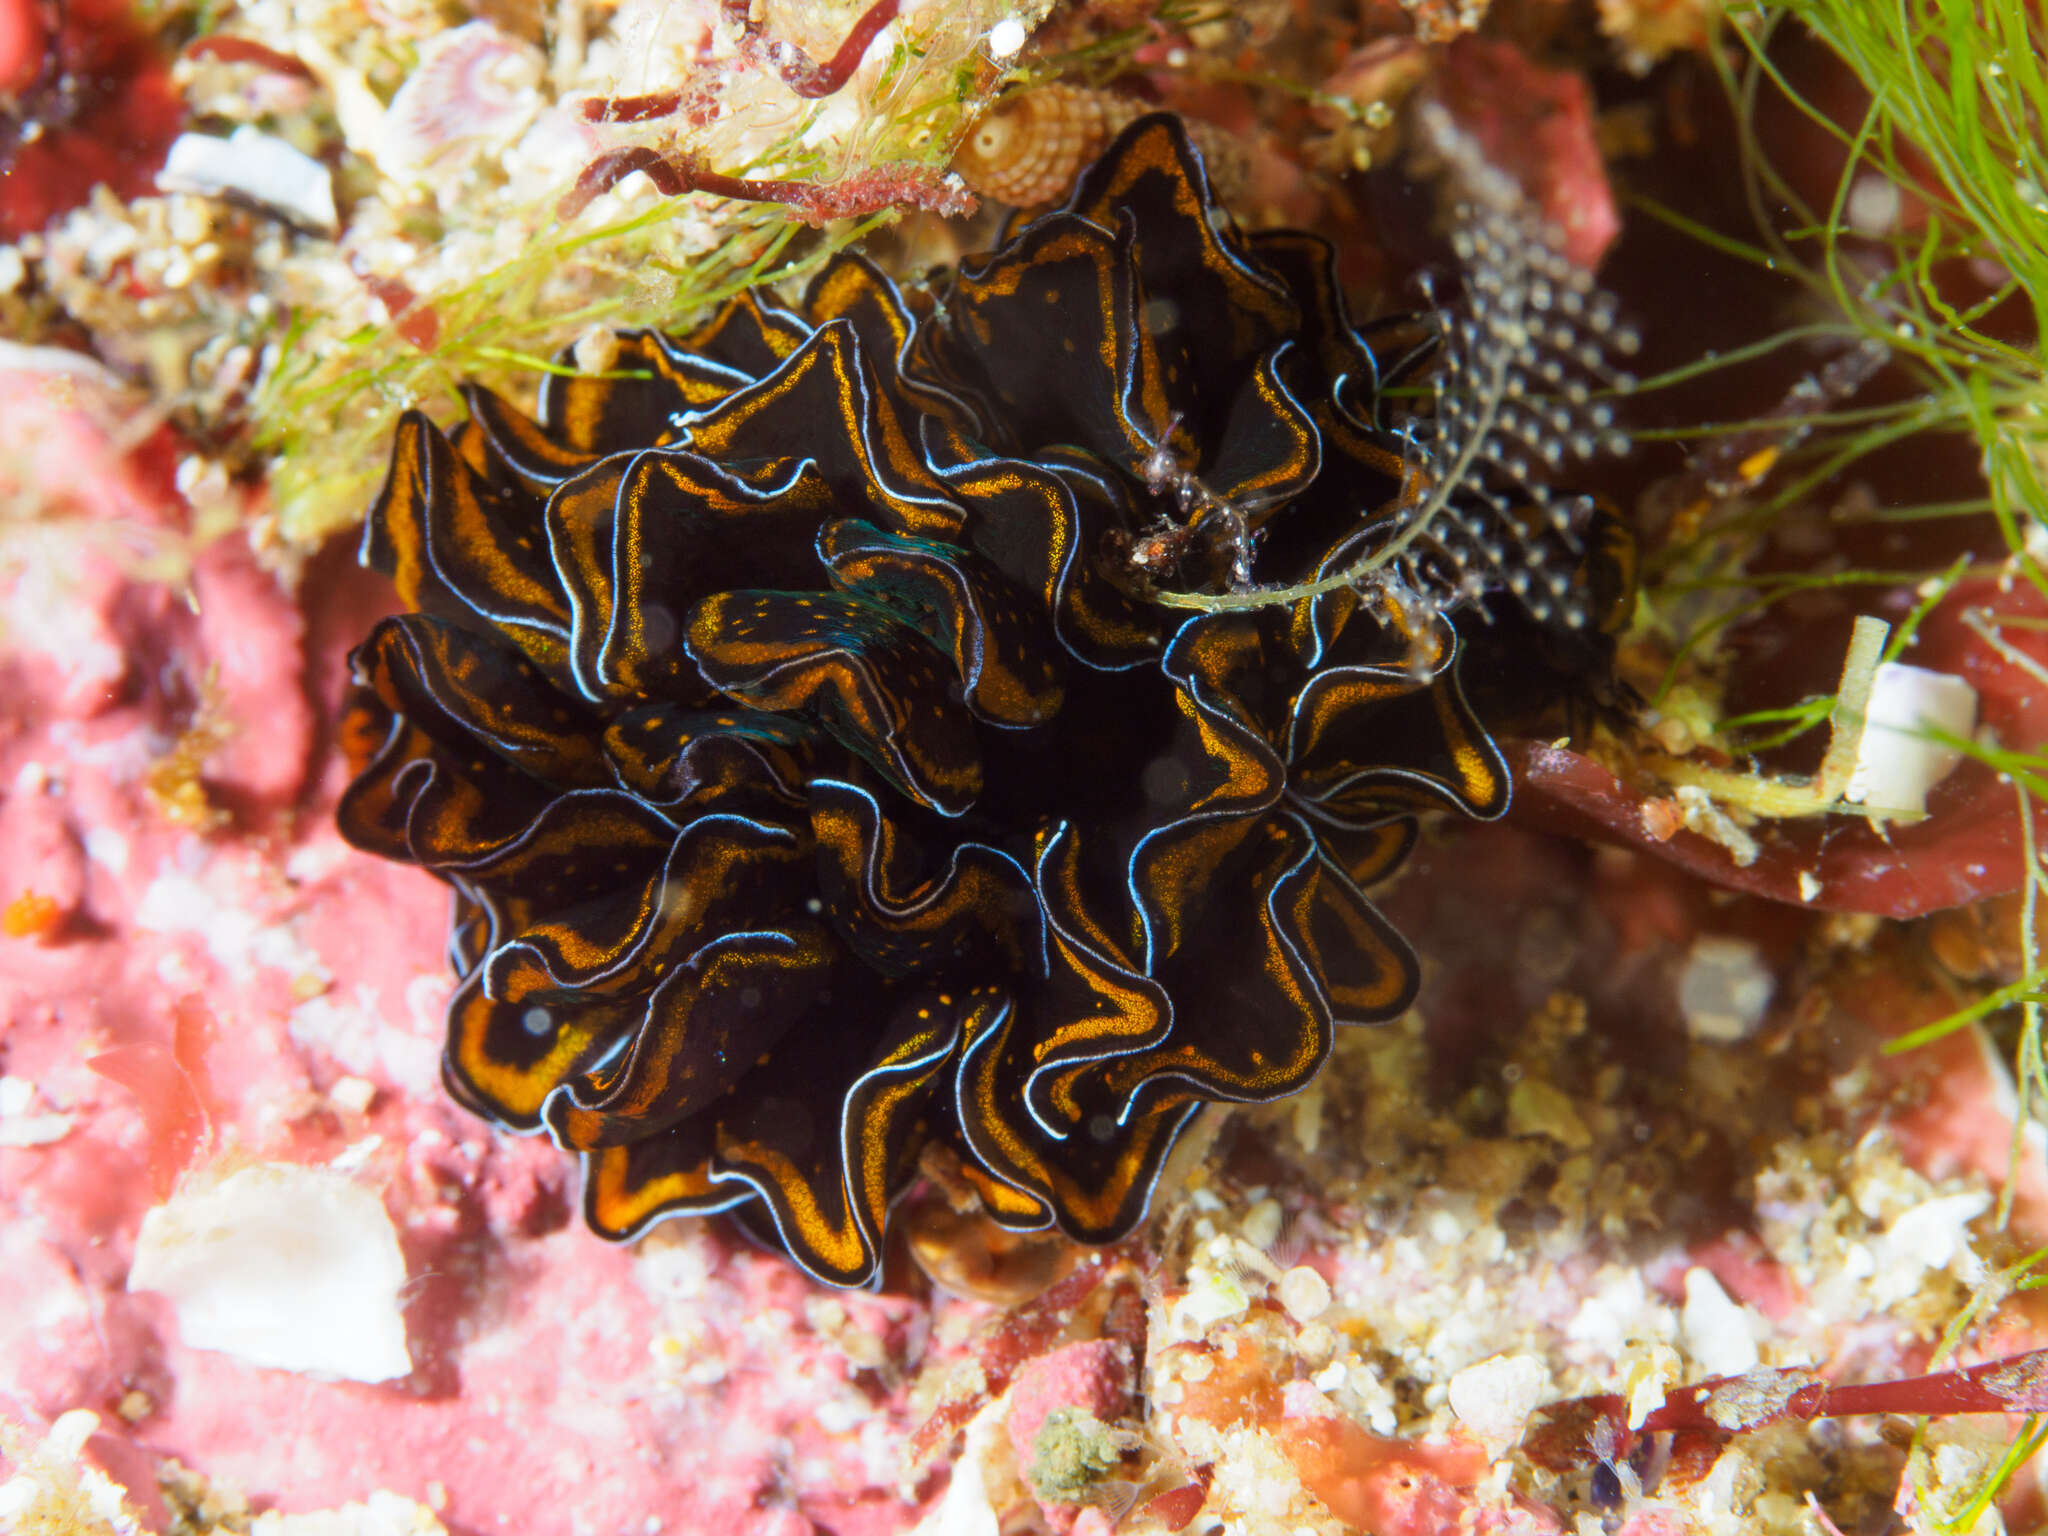
[[[1671,209],[1640,207],[1716,250],[1790,279],[1804,291],[1800,324],[1755,342],[1645,379],[1638,391],[1741,369],[1792,348],[1827,362],[1774,410],[1747,420],[1640,432],[1704,442],[1681,477],[1686,492],[1661,547],[1645,559],[1632,631],[1645,688],[1671,733],[1661,745],[1686,754],[1700,743],[1747,758],[1839,723],[1849,692],[1819,694],[1743,717],[1718,707],[1726,635],[1778,604],[1835,590],[1855,598],[1917,588],[1919,602],[1888,635],[1880,662],[1907,655],[1929,612],[1958,584],[2025,582],[2048,596],[2048,195],[2042,123],[2048,119],[2048,51],[2038,10],[2021,0],[1960,6],[1950,0],[1784,0],[1731,6],[1712,53],[1735,109],[1751,236],[1706,229]],[[1866,88],[1866,100],[1833,113],[1786,74],[1786,29],[1804,27],[1833,49]],[[1784,104],[1829,133],[1843,166],[1825,203],[1806,197],[1759,137],[1759,111]],[[1860,397],[1880,369],[1913,387],[1888,399]],[[1935,502],[1886,502],[1858,475],[1872,455],[1907,442],[1970,446],[1978,485]],[[1841,492],[1841,487],[1847,487]],[[1831,492],[1831,487],[1835,487]],[[1831,500],[1827,500],[1831,498]],[[1825,502],[1825,504],[1823,504]],[[1917,567],[1841,559],[1753,569],[1767,535],[1794,522],[1849,528],[1978,520],[1991,553]],[[1993,535],[1995,528],[1995,535]],[[1911,539],[1901,545],[1911,551]],[[2040,664],[2007,641],[2034,621],[1972,608],[1966,623],[2009,664]],[[1624,659],[1628,649],[1624,649]],[[1864,668],[1868,674],[1868,668]],[[1845,680],[1862,674],[1845,670]],[[1864,678],[1868,680],[1868,678]],[[2042,676],[2048,684],[2048,676]],[[2048,758],[2034,743],[1954,741],[1958,752],[2011,776],[2021,799],[2048,788]],[[2017,748],[2017,750],[2015,750]],[[1839,797],[1778,805],[1757,778],[1731,799],[1747,815],[1858,811]],[[1681,780],[1673,780],[1681,782]],[[2023,805],[2032,819],[2032,807]]]

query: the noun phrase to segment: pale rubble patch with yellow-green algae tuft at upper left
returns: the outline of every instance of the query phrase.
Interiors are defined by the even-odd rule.
[[[725,176],[815,182],[827,205],[870,172],[938,186],[1001,80],[991,35],[1016,53],[1047,4],[913,0],[817,98],[766,55],[829,59],[866,6],[768,4],[754,51],[713,0],[563,0],[547,25],[539,10],[457,25],[403,2],[375,27],[350,0],[166,8],[203,43],[258,41],[303,78],[188,51],[176,84],[205,127],[162,182],[182,190],[129,203],[102,190],[0,248],[0,324],[27,336],[68,313],[150,381],[158,410],[197,438],[225,434],[231,469],[268,481],[258,545],[287,559],[360,518],[401,410],[453,420],[461,381],[530,403],[594,326],[686,326],[895,217],[811,233],[778,205],[659,197],[641,174],[563,217],[592,160],[647,147]],[[672,111],[590,121],[608,100],[664,96]],[[14,297],[29,289],[35,303]]]

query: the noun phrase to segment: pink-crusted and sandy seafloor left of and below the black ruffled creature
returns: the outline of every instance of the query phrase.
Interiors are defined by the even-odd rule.
[[[2030,1135],[2001,1231],[1982,1030],[1882,1055],[2009,907],[1829,915],[1516,821],[1430,829],[1384,893],[1415,1012],[1206,1126],[1124,1249],[932,1237],[993,1303],[901,1260],[827,1290],[715,1223],[594,1239],[561,1153],[440,1092],[444,889],[332,825],[389,590],[240,535],[154,580],[184,459],[98,365],[0,360],[10,492],[68,510],[0,588],[0,1528],[1819,1536],[1939,1528],[2013,1434],[1526,1452],[1575,1395],[1915,1374],[1972,1296],[1954,1360],[2036,1348],[1997,1274],[2048,1178]],[[2042,1524],[2032,1473],[2003,1518]]]

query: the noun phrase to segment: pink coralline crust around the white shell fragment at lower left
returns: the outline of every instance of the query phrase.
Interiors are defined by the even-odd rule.
[[[240,539],[197,553],[197,614],[127,580],[188,514],[166,444],[123,457],[115,416],[96,387],[0,375],[0,463],[63,465],[49,516],[82,518],[47,524],[61,559],[0,586],[0,907],[61,907],[0,940],[0,1073],[68,1116],[0,1141],[0,1417],[98,1411],[90,1454],[160,1528],[164,1458],[256,1507],[389,1489],[457,1532],[913,1524],[895,1477],[926,1307],[831,1296],[821,1315],[791,1266],[705,1225],[608,1247],[571,1219],[553,1147],[446,1102],[446,895],[350,852],[338,770],[309,774],[344,645],[389,594],[322,563],[301,610]],[[229,819],[199,834],[147,774],[207,680],[225,739],[203,784]],[[166,1298],[125,1290],[180,1176],[344,1151],[406,1255],[410,1376],[190,1350]]]

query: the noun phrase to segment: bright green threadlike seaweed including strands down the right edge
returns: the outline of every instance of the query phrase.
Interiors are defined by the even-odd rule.
[[[1794,279],[1810,299],[1812,319],[1640,387],[1737,367],[1786,346],[1819,344],[1837,360],[1812,375],[1784,408],[1710,428],[1741,453],[1753,453],[1759,469],[1751,475],[1745,463],[1733,475],[1743,481],[1739,489],[1702,504],[1704,516],[1681,526],[1647,563],[1634,639],[1661,657],[1663,680],[1653,702],[1673,715],[1698,715],[1694,733],[1737,756],[1782,745],[1833,721],[1849,702],[1847,692],[1739,719],[1720,717],[1710,678],[1726,664],[1720,641],[1737,623],[1821,588],[1870,594],[1917,588],[1919,602],[1882,649],[1882,659],[1890,662],[1909,655],[1915,633],[1937,604],[1964,600],[1958,586],[1966,582],[1974,586],[1966,588],[1970,606],[1962,623],[2003,666],[2048,686],[2040,659],[2013,643],[2042,627],[2040,602],[2030,598],[2048,598],[2048,369],[2042,352],[2048,336],[2048,141],[2042,137],[2048,29],[2042,12],[2028,0],[1778,0],[1731,6],[1729,14],[1739,25],[1722,33],[1726,49],[1716,59],[1737,109],[1755,238],[1686,225],[1669,209],[1647,211],[1690,227],[1722,252]],[[1774,37],[1790,25],[1808,29],[1862,82],[1866,100],[1855,113],[1831,115],[1780,68]],[[1757,135],[1759,106],[1772,98],[1819,125],[1845,152],[1825,207],[1800,195]],[[1913,387],[1878,403],[1855,399],[1860,383],[1882,365]],[[1851,477],[1870,455],[1939,438],[1960,438],[1974,451],[1980,485],[1960,485],[1946,500],[1909,506],[1853,492]],[[1749,569],[1769,530],[1800,512],[1810,514],[1831,483],[1845,481],[1851,494],[1825,508],[1829,522],[1884,522],[1911,532],[1909,524],[1976,518],[1987,528],[1982,547],[1989,553],[1933,569],[1841,563],[1776,573]],[[1993,526],[1995,539],[1989,537]],[[1997,1204],[2003,1225],[2019,1159],[2040,1155],[2025,1133],[2048,1114],[2042,1014],[2048,965],[2038,934],[2048,870],[2036,831],[2040,807],[2048,805],[2048,743],[1997,741],[1985,733],[1939,739],[1997,770],[2017,805],[2023,850],[2017,975],[1892,1040],[1888,1053],[1913,1051],[1980,1022],[1997,1024],[2001,1016],[2001,1030],[2011,1026],[2009,1036],[2001,1034],[2011,1040],[2017,1087],[2011,1176]],[[1987,1305],[2011,1290],[2036,1288],[2040,1257],[2032,1255],[1997,1284],[1987,1282],[1946,1343],[1954,1343]],[[2048,1423],[2028,1417],[1980,1477],[1964,1479],[1968,1487],[1956,1499],[1933,1499],[1931,1483],[1921,1477],[1931,1507],[1954,1509],[1942,1528],[1974,1528],[2044,1440]],[[1919,1436],[1915,1446],[1919,1477],[1925,1473]]]

